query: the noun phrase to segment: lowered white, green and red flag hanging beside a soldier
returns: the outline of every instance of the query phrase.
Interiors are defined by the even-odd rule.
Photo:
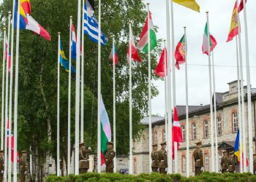
[[[105,164],[105,155],[108,151],[108,141],[111,141],[111,127],[110,127],[110,122],[108,119],[108,113],[106,111],[105,105],[102,100],[102,96],[100,99],[100,122],[101,122],[101,130],[100,130],[100,135],[101,135],[101,159],[102,159],[102,164]]]

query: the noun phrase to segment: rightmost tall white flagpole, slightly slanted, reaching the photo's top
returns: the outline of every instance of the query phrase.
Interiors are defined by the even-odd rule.
[[[247,102],[248,102],[248,137],[249,137],[249,172],[253,173],[253,146],[252,146],[252,90],[249,68],[249,41],[246,15],[246,1],[244,3],[244,33],[245,33],[245,52],[246,52],[246,79],[247,79]]]

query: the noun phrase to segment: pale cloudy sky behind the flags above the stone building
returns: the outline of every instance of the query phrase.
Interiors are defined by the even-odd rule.
[[[236,40],[226,43],[230,29],[230,20],[236,0],[196,0],[200,4],[200,13],[173,4],[175,45],[184,33],[187,26],[188,44],[188,84],[189,105],[199,106],[200,103],[209,103],[208,84],[208,57],[202,54],[203,30],[206,24],[206,11],[209,11],[210,32],[217,39],[214,50],[214,64],[217,92],[228,90],[228,82],[237,79],[236,75]],[[166,39],[165,0],[149,0],[154,25],[159,27],[157,37]],[[249,28],[249,61],[251,84],[256,87],[256,1],[248,1],[246,12]],[[244,12],[241,13],[241,31],[244,63],[244,84],[246,84],[245,51],[244,51]],[[185,76],[184,66],[176,71],[176,104],[185,104]],[[164,82],[154,82],[159,90],[157,98],[152,100],[152,113],[165,114]]]

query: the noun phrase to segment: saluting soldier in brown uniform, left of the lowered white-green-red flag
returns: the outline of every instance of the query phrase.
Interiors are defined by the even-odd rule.
[[[87,173],[87,170],[90,168],[89,165],[89,153],[91,152],[91,147],[86,149],[84,143],[79,144],[79,174]]]

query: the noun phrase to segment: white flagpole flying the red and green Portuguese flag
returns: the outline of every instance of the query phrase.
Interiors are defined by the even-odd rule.
[[[187,83],[187,30],[184,27],[185,39],[185,79],[186,79],[186,159],[187,159],[187,177],[189,177],[189,96],[188,96],[188,83]]]

